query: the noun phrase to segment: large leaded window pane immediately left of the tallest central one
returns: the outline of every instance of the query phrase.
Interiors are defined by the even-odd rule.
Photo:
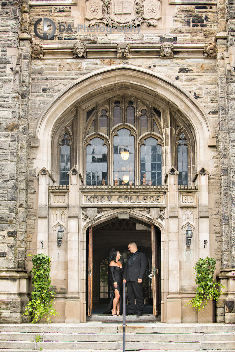
[[[102,185],[108,182],[108,147],[104,140],[93,138],[86,147],[86,184]]]

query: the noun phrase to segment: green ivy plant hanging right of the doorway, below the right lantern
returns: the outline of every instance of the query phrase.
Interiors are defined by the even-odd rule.
[[[221,286],[222,288],[225,287],[217,282],[213,282],[215,264],[216,260],[214,258],[200,258],[194,268],[194,281],[197,284],[197,288],[195,290],[196,296],[192,298],[192,300],[189,301],[186,306],[192,303],[192,307],[195,308],[196,312],[203,309],[208,301],[218,301],[219,295],[224,294],[218,290],[217,285]]]

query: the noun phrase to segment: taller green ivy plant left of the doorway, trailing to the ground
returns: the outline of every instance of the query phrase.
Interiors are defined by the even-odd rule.
[[[49,256],[45,254],[29,255],[32,257],[33,268],[30,271],[32,276],[32,299],[25,307],[24,315],[31,315],[32,323],[38,322],[44,315],[48,322],[51,322],[49,315],[58,315],[55,308],[52,308],[55,291],[52,291],[50,280],[50,268],[52,266]]]

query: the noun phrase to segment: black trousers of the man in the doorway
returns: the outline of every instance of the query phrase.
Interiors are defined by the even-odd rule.
[[[144,295],[143,295],[143,281],[141,284],[135,281],[127,281],[127,296],[129,312],[134,314],[135,311],[135,298],[137,313],[143,313]]]

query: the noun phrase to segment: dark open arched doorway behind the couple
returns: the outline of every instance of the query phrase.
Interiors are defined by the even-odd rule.
[[[158,315],[161,309],[161,284],[156,285],[156,281],[161,283],[161,233],[155,227],[154,231],[155,249],[155,267],[152,270],[152,237],[151,225],[140,222],[138,220],[127,219],[112,219],[101,226],[93,227],[92,231],[92,293],[88,292],[88,282],[90,282],[88,266],[88,255],[86,265],[86,302],[88,312],[88,301],[93,301],[93,314],[101,314],[112,297],[112,289],[110,287],[109,277],[109,252],[113,247],[116,247],[121,253],[121,262],[125,266],[128,253],[128,243],[136,241],[138,249],[146,254],[147,270],[143,282],[144,290],[144,314]],[[89,235],[87,234],[87,253],[89,254]],[[158,243],[158,245],[156,245]],[[157,251],[157,253],[156,253]],[[90,264],[89,264],[90,265]],[[89,269],[90,268],[90,269]],[[152,274],[152,275],[150,275]],[[153,275],[155,274],[155,278]],[[159,275],[156,280],[156,275]],[[157,292],[156,292],[157,290]],[[92,299],[89,297],[92,294]],[[155,297],[153,299],[153,297]],[[126,293],[127,300],[127,293]],[[155,309],[153,309],[153,304]],[[90,314],[89,314],[90,315]]]

